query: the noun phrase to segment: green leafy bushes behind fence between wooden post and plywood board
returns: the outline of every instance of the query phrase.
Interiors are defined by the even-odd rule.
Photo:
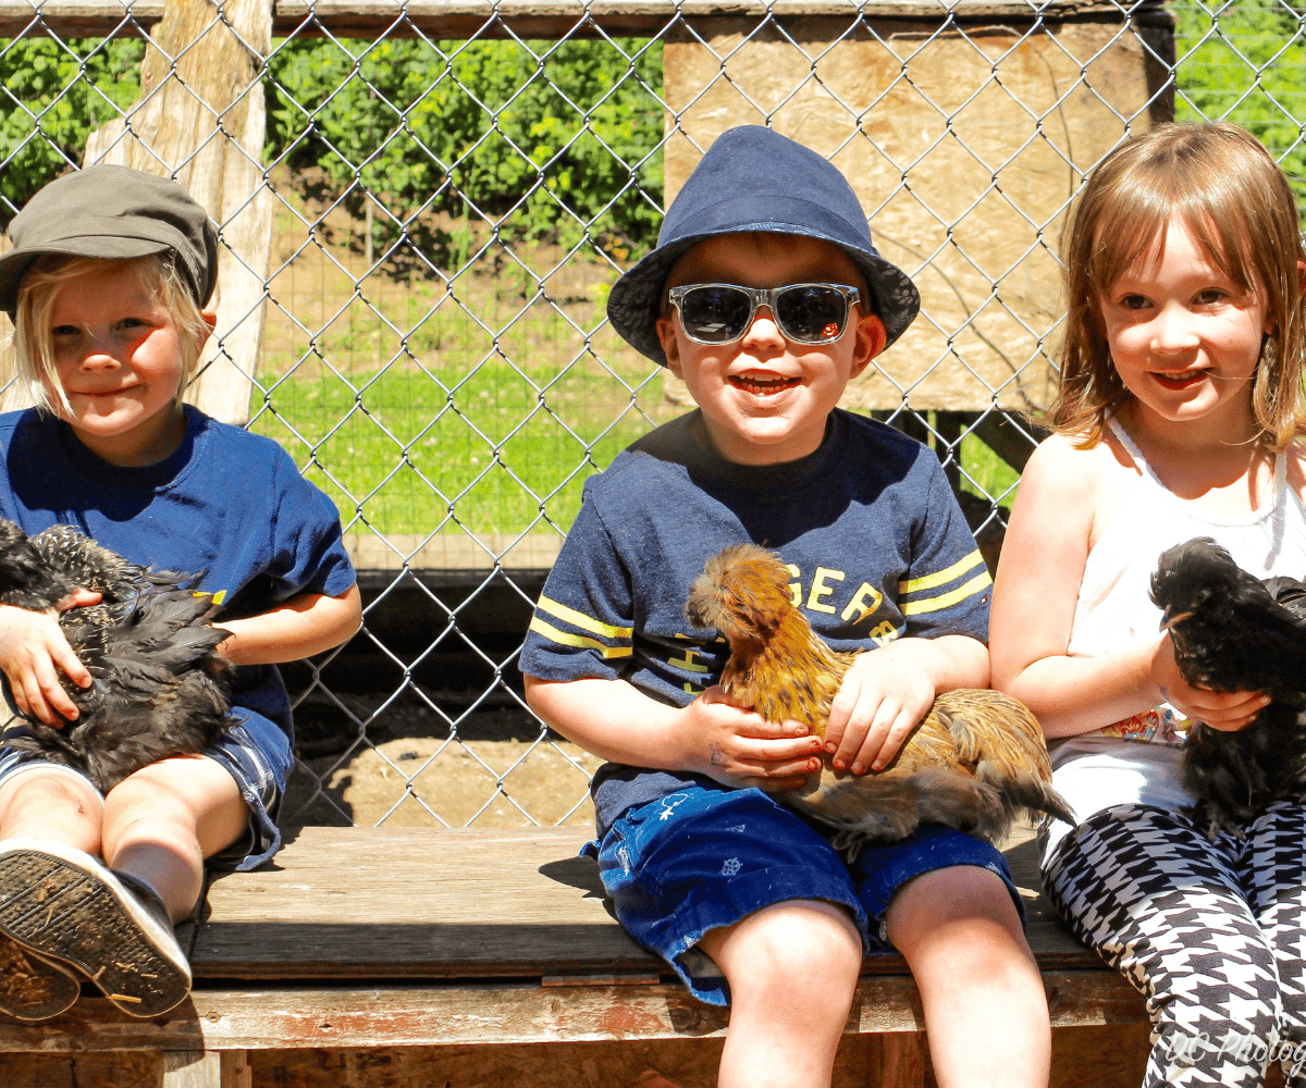
[[[355,214],[371,195],[383,244],[447,256],[452,218],[618,259],[657,235],[661,43],[289,40],[269,72],[269,161]]]

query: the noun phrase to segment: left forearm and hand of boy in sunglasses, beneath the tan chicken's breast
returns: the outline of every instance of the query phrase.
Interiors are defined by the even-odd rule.
[[[727,786],[797,789],[820,765],[820,738],[798,722],[768,722],[710,687],[669,707],[627,680],[526,677],[530,708],[568,741],[613,763],[691,771]]]

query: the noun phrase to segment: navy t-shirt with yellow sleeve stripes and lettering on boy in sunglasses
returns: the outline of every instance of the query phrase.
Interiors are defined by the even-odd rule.
[[[690,413],[633,443],[585,482],[580,515],[545,584],[521,670],[546,680],[626,679],[686,705],[730,656],[684,618],[690,584],[727,545],[780,554],[794,601],[835,649],[902,636],[987,641],[991,580],[938,458],[884,423],[831,414],[816,452],[784,465],[725,461]],[[675,793],[688,773],[606,764],[599,833]]]

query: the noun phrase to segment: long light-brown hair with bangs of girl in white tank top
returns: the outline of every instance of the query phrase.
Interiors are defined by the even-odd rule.
[[[1266,298],[1273,332],[1256,364],[1252,410],[1260,439],[1281,448],[1306,434],[1298,266],[1306,253],[1282,170],[1251,133],[1221,121],[1161,125],[1122,144],[1080,193],[1062,235],[1067,312],[1050,422],[1097,441],[1106,414],[1128,401],[1111,364],[1101,300],[1132,264],[1164,247],[1174,214],[1239,290]]]

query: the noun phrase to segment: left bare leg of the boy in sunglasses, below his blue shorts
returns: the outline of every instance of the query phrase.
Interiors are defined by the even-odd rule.
[[[718,1088],[828,1088],[862,967],[844,910],[788,900],[704,934],[730,982]]]

